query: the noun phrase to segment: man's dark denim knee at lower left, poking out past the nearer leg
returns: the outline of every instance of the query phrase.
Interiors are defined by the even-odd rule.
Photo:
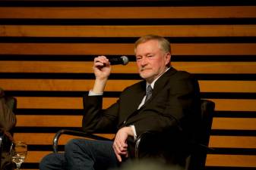
[[[63,153],[51,153],[40,162],[40,170],[65,170],[66,166]]]

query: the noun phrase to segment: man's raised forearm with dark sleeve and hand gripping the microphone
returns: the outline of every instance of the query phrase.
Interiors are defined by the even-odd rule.
[[[84,116],[82,127],[84,131],[95,132],[113,126],[115,116],[108,113],[108,110],[102,109],[103,91],[106,82],[111,72],[109,60],[105,56],[94,58],[93,72],[95,75],[95,82],[89,95],[84,95]],[[115,106],[118,106],[115,104]],[[117,113],[116,107],[110,107],[112,114]]]

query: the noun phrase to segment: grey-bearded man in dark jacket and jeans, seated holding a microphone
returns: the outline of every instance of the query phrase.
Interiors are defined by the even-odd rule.
[[[166,148],[171,151],[168,161],[184,165],[200,117],[198,82],[191,74],[170,65],[170,44],[163,37],[141,37],[135,42],[134,52],[143,81],[125,88],[119,100],[103,110],[103,91],[111,63],[105,56],[99,56],[94,59],[95,83],[84,97],[84,131],[112,130],[116,132],[115,140],[74,139],[66,144],[65,156],[46,156],[40,163],[41,170],[118,166],[133,156],[132,142],[145,131],[165,134],[170,142]]]

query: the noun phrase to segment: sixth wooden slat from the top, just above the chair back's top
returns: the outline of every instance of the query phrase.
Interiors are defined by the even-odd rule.
[[[109,107],[117,98],[104,97],[103,108]],[[255,111],[256,100],[243,99],[210,99],[221,111]],[[83,109],[82,97],[17,97],[17,108],[20,109]],[[36,114],[36,113],[35,113]]]

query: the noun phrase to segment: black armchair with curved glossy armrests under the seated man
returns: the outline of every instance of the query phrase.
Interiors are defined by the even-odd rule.
[[[209,150],[208,143],[210,139],[210,130],[211,130],[211,125],[213,121],[213,113],[214,113],[214,107],[215,104],[213,101],[210,100],[201,100],[201,125],[200,129],[201,131],[198,131],[197,136],[200,137],[198,139],[197,143],[197,150],[188,157],[185,167],[188,170],[201,170],[204,169],[204,164],[206,161],[206,156],[207,156],[207,151]],[[96,139],[96,140],[109,140],[109,138],[103,138],[100,136],[97,136],[95,134],[89,134],[83,131],[71,131],[71,130],[65,130],[62,129],[58,131],[55,134],[55,137],[53,139],[53,152],[57,153],[58,152],[58,138],[62,134],[70,134],[70,135],[75,135],[75,136],[80,136],[84,138],[91,138],[91,139]],[[152,134],[150,131],[145,132],[144,134],[141,134],[138,138],[137,141],[135,142],[135,150],[134,150],[134,155],[135,158],[140,157],[140,150],[142,148],[143,150],[143,144],[144,141],[147,141],[147,139],[152,139]],[[150,137],[150,138],[149,138]],[[153,136],[154,138],[154,136]],[[150,150],[153,149],[150,147]]]

